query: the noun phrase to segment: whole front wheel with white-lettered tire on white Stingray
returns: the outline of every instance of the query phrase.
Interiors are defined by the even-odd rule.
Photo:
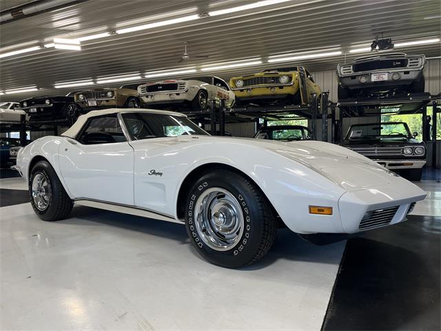
[[[190,189],[185,227],[197,252],[226,268],[264,257],[277,229],[271,205],[256,185],[223,169],[203,174]]]

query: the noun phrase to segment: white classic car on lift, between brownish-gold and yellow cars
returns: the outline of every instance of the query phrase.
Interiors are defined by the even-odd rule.
[[[225,100],[225,107],[234,103],[234,92],[218,77],[203,76],[158,81],[138,86],[138,94],[147,106],[189,106],[191,110],[206,110],[209,101]]]

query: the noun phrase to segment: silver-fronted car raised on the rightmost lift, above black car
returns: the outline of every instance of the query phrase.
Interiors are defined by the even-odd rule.
[[[339,63],[338,100],[424,92],[424,55],[375,54]]]

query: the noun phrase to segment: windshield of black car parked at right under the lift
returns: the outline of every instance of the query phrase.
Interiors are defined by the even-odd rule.
[[[351,126],[346,139],[408,139],[411,133],[406,123],[373,123]]]

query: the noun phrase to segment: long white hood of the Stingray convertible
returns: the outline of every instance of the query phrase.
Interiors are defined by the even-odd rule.
[[[314,170],[347,191],[366,190],[391,185],[403,179],[378,163],[347,148],[322,141],[259,141],[259,139],[219,138],[243,141],[256,148],[291,159]]]

